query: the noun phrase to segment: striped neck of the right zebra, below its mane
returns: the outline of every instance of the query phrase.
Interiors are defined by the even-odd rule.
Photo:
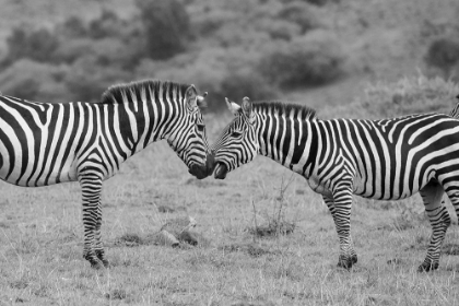
[[[308,178],[317,155],[316,120],[284,114],[263,117],[257,120],[260,154]]]

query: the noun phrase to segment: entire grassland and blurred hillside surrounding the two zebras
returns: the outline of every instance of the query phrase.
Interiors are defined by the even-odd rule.
[[[459,93],[456,0],[0,0],[0,91],[97,101],[143,78],[209,91],[212,142],[223,97],[305,103],[319,117],[449,111]],[[161,31],[160,31],[161,30]],[[431,227],[419,196],[355,199],[358,263],[336,268],[320,197],[263,158],[223,181],[196,180],[160,142],[103,193],[113,268],[82,259],[78,184],[1,184],[0,305],[456,305],[457,220],[437,272],[416,273]],[[450,213],[455,212],[448,205]],[[192,215],[197,247],[155,245]]]

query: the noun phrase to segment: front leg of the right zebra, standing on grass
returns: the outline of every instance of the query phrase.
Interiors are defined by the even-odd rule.
[[[341,184],[333,190],[334,210],[333,220],[337,226],[338,237],[340,239],[340,257],[338,267],[350,269],[354,263],[351,237],[351,207],[352,188],[350,184]]]

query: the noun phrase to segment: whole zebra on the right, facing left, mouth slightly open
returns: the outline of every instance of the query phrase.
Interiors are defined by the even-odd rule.
[[[442,114],[321,120],[314,109],[294,104],[248,97],[240,106],[226,104],[235,118],[211,145],[215,178],[224,179],[258,154],[305,177],[333,217],[338,267],[345,269],[357,262],[350,222],[353,195],[399,200],[420,192],[433,232],[417,270],[438,269],[451,223],[445,192],[459,214],[459,120]]]

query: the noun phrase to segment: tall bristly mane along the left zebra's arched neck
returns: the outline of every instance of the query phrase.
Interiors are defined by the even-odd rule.
[[[128,98],[129,102],[132,102],[134,98],[137,98],[133,95],[139,96],[142,91],[146,93],[156,93],[160,91],[160,89],[169,94],[172,94],[174,91],[181,92],[181,95],[184,96],[186,90],[189,86],[190,85],[187,84],[160,80],[143,80],[118,84],[108,87],[108,90],[104,92],[99,104],[126,103],[126,98]]]

